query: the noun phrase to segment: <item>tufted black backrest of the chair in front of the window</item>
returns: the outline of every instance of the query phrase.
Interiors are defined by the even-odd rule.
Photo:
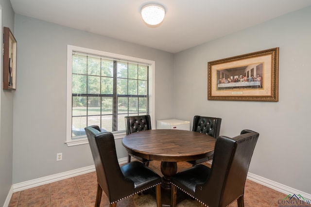
[[[151,129],[150,115],[125,116],[124,118],[126,134]]]

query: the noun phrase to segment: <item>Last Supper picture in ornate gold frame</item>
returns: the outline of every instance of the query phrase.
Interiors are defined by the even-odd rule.
[[[207,99],[278,101],[278,50],[207,63]]]

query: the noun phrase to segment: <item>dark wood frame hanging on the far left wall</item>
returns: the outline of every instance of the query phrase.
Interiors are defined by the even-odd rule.
[[[3,89],[16,90],[17,41],[10,28],[3,27]]]

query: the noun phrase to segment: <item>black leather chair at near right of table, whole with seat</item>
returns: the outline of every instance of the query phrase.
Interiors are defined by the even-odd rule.
[[[226,207],[237,200],[238,207],[244,207],[244,186],[258,137],[248,129],[233,138],[218,137],[211,168],[196,165],[171,177],[171,206],[176,206],[179,188],[202,206]]]

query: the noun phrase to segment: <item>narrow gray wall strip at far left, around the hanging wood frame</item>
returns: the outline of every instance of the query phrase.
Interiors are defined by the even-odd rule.
[[[14,33],[14,11],[9,0],[0,0],[1,23],[0,29],[9,27]],[[3,44],[1,38],[1,46]],[[2,48],[2,47],[1,47]],[[0,61],[2,83],[2,62]],[[3,206],[12,186],[13,173],[13,104],[14,92],[0,89],[0,206]]]

